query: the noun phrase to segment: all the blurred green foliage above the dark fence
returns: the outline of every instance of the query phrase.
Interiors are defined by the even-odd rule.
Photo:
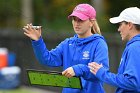
[[[32,0],[33,24],[42,25],[47,31],[72,31],[71,20],[68,20],[67,16],[79,3],[91,4],[91,0]],[[101,31],[117,32],[117,26],[112,25],[109,18],[118,16],[127,7],[139,7],[140,0],[102,0],[102,3],[103,11],[97,14]],[[21,16],[24,14],[22,14],[21,6],[21,0],[1,0],[0,28],[21,28],[23,26]]]

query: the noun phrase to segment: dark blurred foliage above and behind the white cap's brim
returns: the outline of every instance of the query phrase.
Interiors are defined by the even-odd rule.
[[[104,11],[107,19],[107,32],[117,32],[118,25],[112,25],[109,18],[119,16],[119,14],[128,7],[139,7],[140,0],[104,0]]]

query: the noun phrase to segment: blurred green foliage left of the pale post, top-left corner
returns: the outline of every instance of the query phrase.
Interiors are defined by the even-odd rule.
[[[0,0],[0,27],[20,25],[20,0]]]

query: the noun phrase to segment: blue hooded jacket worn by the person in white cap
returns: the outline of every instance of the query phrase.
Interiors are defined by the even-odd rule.
[[[117,74],[102,67],[96,76],[118,87],[116,93],[140,93],[140,35],[127,42]]]

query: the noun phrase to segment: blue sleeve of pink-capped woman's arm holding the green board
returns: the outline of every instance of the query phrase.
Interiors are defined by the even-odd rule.
[[[95,54],[94,54],[94,62],[99,64],[103,64],[106,69],[109,67],[108,63],[108,47],[104,41],[101,41],[97,44]],[[74,65],[73,69],[75,71],[76,76],[82,76],[86,80],[94,81],[97,80],[95,75],[90,72],[90,69],[85,64]]]

